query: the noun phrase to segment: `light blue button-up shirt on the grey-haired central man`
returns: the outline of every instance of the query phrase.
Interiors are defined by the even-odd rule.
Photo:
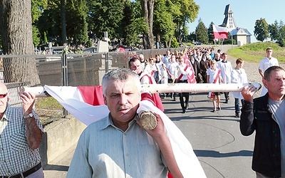
[[[155,140],[135,119],[124,132],[109,115],[83,131],[67,177],[167,177],[162,160]]]

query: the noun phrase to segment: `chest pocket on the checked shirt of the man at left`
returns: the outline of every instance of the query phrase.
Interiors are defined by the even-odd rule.
[[[24,133],[16,133],[11,135],[9,144],[11,149],[16,152],[25,150],[26,147],[28,147],[28,142]]]

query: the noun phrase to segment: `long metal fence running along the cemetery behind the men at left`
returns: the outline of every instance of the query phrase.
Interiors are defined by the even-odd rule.
[[[115,68],[128,68],[128,61],[135,55],[143,54],[145,59],[154,57],[156,54],[165,54],[167,50],[182,51],[184,48],[162,48],[143,51],[125,51],[112,53],[83,53],[65,55],[32,55],[27,57],[36,58],[36,67],[41,80],[41,85],[100,85],[103,75]],[[0,55],[1,61],[4,58],[17,58],[19,56]],[[23,57],[23,56],[20,56]],[[8,72],[9,73],[9,72]],[[0,69],[0,81],[4,82],[4,72]],[[19,89],[22,86],[30,85],[30,81],[20,83],[6,83],[10,93],[13,93],[10,100],[11,105],[18,105]]]

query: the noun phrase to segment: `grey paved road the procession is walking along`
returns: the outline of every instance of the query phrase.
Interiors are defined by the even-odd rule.
[[[224,95],[221,98],[224,102]],[[190,95],[190,109],[184,114],[179,101],[165,98],[162,102],[165,114],[190,140],[207,177],[255,177],[251,169],[254,135],[240,134],[232,95],[218,112],[210,112],[212,100],[207,99],[207,93]],[[66,177],[74,148],[44,167],[46,178]]]

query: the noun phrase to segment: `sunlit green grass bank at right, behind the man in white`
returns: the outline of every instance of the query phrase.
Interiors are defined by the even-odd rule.
[[[242,58],[244,61],[259,63],[261,58],[266,56],[266,48],[273,49],[273,57],[277,58],[279,63],[285,62],[285,48],[281,48],[277,43],[258,42],[249,43],[244,46],[229,49],[227,53],[234,58]]]

